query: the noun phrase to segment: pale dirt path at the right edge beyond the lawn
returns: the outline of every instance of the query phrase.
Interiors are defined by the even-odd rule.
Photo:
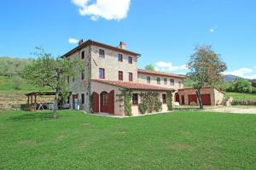
[[[206,109],[204,111],[216,111],[224,113],[237,113],[237,114],[256,114],[256,107],[218,107],[212,109]]]

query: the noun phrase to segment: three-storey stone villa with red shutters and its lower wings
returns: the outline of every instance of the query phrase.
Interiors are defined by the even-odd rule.
[[[126,49],[125,42],[113,47],[102,42],[88,40],[79,42],[62,57],[78,58],[86,65],[86,71],[78,77],[68,78],[70,96],[68,104],[73,109],[103,112],[110,115],[125,116],[117,94],[120,88],[132,90],[132,115],[140,114],[138,104],[140,93],[154,91],[159,94],[162,111],[167,111],[166,93],[172,92],[173,102],[181,105],[197,103],[194,89],[184,89],[184,76],[160,71],[146,71],[137,68],[141,55]],[[223,93],[215,88],[202,90],[205,105],[219,105]]]

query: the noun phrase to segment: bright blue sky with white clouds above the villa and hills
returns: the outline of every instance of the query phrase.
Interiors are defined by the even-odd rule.
[[[254,0],[1,0],[0,56],[60,56],[79,39],[142,54],[138,67],[184,74],[197,45],[212,45],[225,74],[256,78]]]

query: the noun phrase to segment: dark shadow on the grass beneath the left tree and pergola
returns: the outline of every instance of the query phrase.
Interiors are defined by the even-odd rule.
[[[60,117],[64,117],[64,116],[59,115],[57,112],[56,120],[59,119]],[[52,112],[49,112],[49,111],[47,112],[46,111],[42,111],[42,112],[27,111],[24,114],[9,117],[9,121],[13,121],[13,122],[32,122],[37,120],[47,121],[47,120],[55,120],[55,119],[53,119]]]

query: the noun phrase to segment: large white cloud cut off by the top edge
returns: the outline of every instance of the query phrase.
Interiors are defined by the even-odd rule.
[[[127,17],[131,0],[72,0],[79,7],[79,14],[89,15],[91,20],[122,20]]]

